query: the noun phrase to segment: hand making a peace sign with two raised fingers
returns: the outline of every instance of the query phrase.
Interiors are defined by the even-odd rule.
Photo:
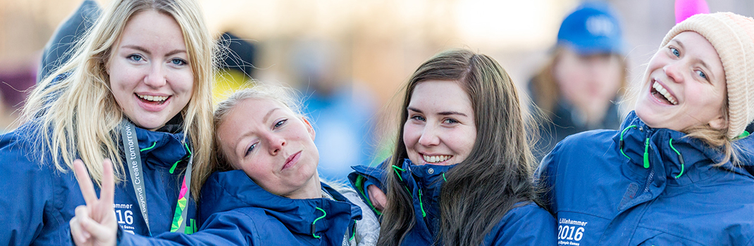
[[[89,173],[81,159],[73,162],[73,169],[87,205],[76,208],[76,216],[70,221],[71,235],[78,246],[115,245],[118,238],[118,222],[112,208],[115,195],[115,181],[112,174],[112,162],[105,159],[103,165],[102,189],[100,199],[94,191]]]

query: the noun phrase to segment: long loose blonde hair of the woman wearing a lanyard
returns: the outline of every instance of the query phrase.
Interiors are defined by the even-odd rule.
[[[124,114],[112,96],[106,64],[127,21],[142,11],[167,14],[181,27],[195,88],[189,104],[180,112],[184,141],[189,138],[195,163],[209,161],[215,49],[200,5],[194,0],[115,0],[76,44],[69,62],[45,77],[26,101],[23,117],[38,127],[35,150],[49,151],[40,154],[42,163],[48,163],[44,157],[48,156],[60,172],[67,172],[66,166],[72,169],[74,159],[82,159],[91,178],[100,184],[101,163],[109,158],[115,163],[117,181],[124,177],[118,153],[118,123]],[[192,177],[195,197],[204,180],[206,177]]]

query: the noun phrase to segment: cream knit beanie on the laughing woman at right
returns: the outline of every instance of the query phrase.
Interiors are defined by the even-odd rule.
[[[664,47],[681,32],[697,32],[720,56],[728,87],[728,138],[743,133],[754,120],[754,20],[733,13],[697,14],[665,35]]]

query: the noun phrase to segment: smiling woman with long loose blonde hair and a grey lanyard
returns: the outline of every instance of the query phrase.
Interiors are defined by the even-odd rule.
[[[193,232],[206,177],[190,174],[209,161],[212,70],[197,2],[113,1],[29,96],[23,126],[0,135],[0,244],[72,244],[69,220],[87,212],[75,210],[73,164],[101,184],[105,159],[122,232]]]

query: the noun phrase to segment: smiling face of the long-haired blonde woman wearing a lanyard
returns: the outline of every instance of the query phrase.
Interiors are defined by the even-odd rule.
[[[112,52],[106,65],[112,94],[136,126],[158,129],[189,103],[194,74],[173,17],[134,14]]]

